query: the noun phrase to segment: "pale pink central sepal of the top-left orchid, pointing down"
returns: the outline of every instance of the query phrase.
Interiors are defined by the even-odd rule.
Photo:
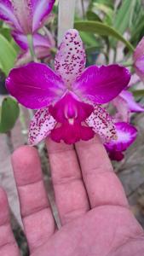
[[[32,33],[32,0],[11,0],[11,2],[22,32]]]

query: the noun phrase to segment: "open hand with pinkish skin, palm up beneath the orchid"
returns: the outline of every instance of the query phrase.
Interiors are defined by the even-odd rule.
[[[21,218],[31,256],[142,256],[144,233],[98,137],[73,146],[46,142],[61,227],[58,230],[43,186],[37,149],[12,156]],[[0,189],[0,255],[20,256]]]

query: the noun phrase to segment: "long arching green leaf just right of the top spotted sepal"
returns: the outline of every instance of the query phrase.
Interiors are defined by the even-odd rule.
[[[78,21],[75,22],[75,28],[83,32],[92,32],[102,36],[112,36],[123,42],[128,49],[134,51],[133,46],[121,34],[119,34],[112,26],[107,26],[98,21]]]

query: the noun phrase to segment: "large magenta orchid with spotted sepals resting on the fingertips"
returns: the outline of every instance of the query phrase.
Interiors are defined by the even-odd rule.
[[[48,136],[69,144],[87,141],[95,133],[105,142],[117,138],[111,116],[100,105],[124,90],[130,73],[118,65],[84,67],[83,42],[71,29],[55,55],[55,72],[40,63],[11,70],[6,81],[10,94],[26,108],[38,109],[30,125],[30,144]]]

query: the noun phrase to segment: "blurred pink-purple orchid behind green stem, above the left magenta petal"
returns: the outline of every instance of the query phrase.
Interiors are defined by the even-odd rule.
[[[28,46],[26,35],[13,32],[12,36],[15,42],[19,44],[21,48],[21,53],[16,61],[16,66],[19,67],[32,61],[32,55]],[[55,40],[50,32],[47,36],[36,33],[33,35],[33,47],[35,49],[37,59],[50,58],[51,49],[55,47]]]

